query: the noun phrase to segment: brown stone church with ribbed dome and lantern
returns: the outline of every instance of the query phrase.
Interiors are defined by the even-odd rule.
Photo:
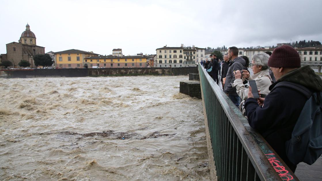
[[[31,64],[31,68],[36,68],[33,62],[33,56],[45,54],[45,47],[36,45],[36,36],[30,30],[29,24],[26,25],[26,30],[21,34],[18,42],[6,44],[7,53],[1,54],[1,61],[9,60],[14,68],[21,68],[18,63],[21,60],[27,60]]]

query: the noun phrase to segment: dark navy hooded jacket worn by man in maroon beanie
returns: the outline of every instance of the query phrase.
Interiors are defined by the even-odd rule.
[[[321,78],[309,65],[286,73],[270,86],[270,90],[283,81],[303,85],[312,93],[322,90]],[[297,90],[277,87],[266,96],[263,107],[260,107],[254,98],[248,98],[245,102],[249,125],[263,135],[293,171],[296,166],[286,156],[285,142],[291,138],[293,128],[307,100]]]

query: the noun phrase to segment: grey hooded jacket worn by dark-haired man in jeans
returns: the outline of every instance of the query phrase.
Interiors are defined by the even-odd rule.
[[[243,70],[245,67],[246,61],[242,57],[236,57],[231,63],[228,65],[228,71],[226,75],[225,87],[224,91],[227,94],[238,96],[236,92],[236,87],[232,87],[232,83],[235,80],[234,71]]]

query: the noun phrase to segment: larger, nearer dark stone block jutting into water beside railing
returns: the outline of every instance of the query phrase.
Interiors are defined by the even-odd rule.
[[[180,82],[180,93],[201,99],[200,82]]]

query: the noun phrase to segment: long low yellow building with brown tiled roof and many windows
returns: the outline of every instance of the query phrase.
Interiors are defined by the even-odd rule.
[[[105,68],[147,67],[145,56],[91,56],[84,58],[84,66]]]

